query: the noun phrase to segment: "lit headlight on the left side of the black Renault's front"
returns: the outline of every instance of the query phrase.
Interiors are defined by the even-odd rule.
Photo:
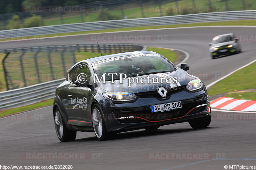
[[[114,101],[131,101],[136,99],[136,95],[129,92],[105,92],[103,96],[106,99]]]

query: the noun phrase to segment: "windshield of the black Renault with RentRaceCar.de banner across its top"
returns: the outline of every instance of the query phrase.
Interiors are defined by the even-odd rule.
[[[102,60],[92,63],[94,72],[98,78],[105,74],[105,80],[112,79],[110,73],[117,73],[114,75],[114,80],[120,79],[120,74],[123,76],[135,77],[146,74],[171,72],[174,71],[173,65],[158,54],[146,54],[147,56],[122,56],[111,59]],[[124,75],[125,74],[125,75]]]

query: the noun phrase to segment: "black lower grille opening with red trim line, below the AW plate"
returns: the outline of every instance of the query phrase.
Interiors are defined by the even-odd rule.
[[[160,111],[160,112],[153,112],[151,113],[150,106],[145,107],[131,107],[125,109],[116,109],[113,110],[113,114],[116,118],[121,117],[130,117],[133,116],[134,118],[125,118],[125,119],[117,119],[120,123],[140,123],[140,122],[148,122],[148,121],[162,121],[168,120],[173,118],[182,117],[188,112],[198,106],[206,103],[206,96],[198,97],[189,100],[182,100],[182,108],[173,109],[170,111]],[[191,114],[196,114],[203,112],[206,109],[206,106],[195,108],[190,112]]]

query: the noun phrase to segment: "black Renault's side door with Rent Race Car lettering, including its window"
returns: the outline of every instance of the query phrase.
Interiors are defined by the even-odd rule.
[[[87,77],[87,81],[90,82],[91,71],[86,64],[80,64],[77,66],[76,76],[74,80],[81,80],[81,76]],[[68,87],[68,97],[70,99],[71,107],[69,107],[67,113],[69,115],[68,123],[76,126],[92,126],[91,115],[91,100],[94,95],[94,91],[85,85],[70,84]]]

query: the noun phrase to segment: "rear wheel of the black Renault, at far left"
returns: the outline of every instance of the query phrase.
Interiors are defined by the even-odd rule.
[[[57,137],[61,142],[68,142],[76,139],[76,132],[68,130],[58,108],[54,111],[54,124]]]

